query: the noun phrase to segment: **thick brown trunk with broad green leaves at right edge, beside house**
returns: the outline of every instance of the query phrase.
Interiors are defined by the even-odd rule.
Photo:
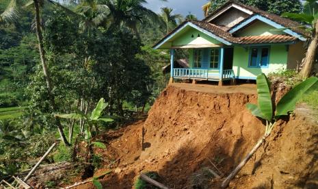
[[[304,67],[300,74],[302,77],[310,77],[311,72],[313,71],[313,66],[315,64],[315,57],[318,47],[318,11],[317,11],[317,2],[315,0],[306,0],[304,5],[304,10],[302,13],[284,13],[282,16],[287,16],[293,18],[296,21],[305,23],[307,31],[310,32],[310,44],[307,49],[306,58],[304,60]]]

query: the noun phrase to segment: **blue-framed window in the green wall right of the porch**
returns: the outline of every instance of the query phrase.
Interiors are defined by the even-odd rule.
[[[269,62],[269,47],[252,47],[250,49],[250,62],[252,68],[267,67]]]

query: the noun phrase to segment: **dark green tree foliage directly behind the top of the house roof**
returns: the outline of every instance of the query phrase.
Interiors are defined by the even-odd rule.
[[[228,0],[211,0],[211,8],[209,12],[213,12],[220,8]],[[302,11],[302,3],[299,0],[236,0],[246,5],[251,5],[261,10],[274,14],[282,14],[284,12],[300,13]]]

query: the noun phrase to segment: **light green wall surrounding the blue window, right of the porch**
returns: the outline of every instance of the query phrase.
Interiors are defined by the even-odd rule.
[[[285,45],[271,45],[268,68],[249,68],[250,48],[234,47],[233,71],[236,77],[256,77],[261,73],[273,73],[287,68],[288,51]]]

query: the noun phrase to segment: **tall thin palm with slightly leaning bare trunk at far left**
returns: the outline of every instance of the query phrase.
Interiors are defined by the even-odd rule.
[[[61,8],[63,8],[62,5],[59,5],[58,3],[55,3],[54,1],[47,0],[49,3],[53,3],[54,5],[57,5]],[[42,69],[44,73],[45,80],[47,82],[47,90],[49,94],[49,101],[51,104],[52,110],[57,110],[56,104],[55,104],[55,97],[52,93],[53,84],[51,82],[51,77],[49,75],[49,70],[47,67],[47,61],[45,58],[45,53],[43,49],[43,39],[42,39],[42,30],[40,26],[40,7],[44,4],[44,0],[31,0],[28,3],[23,3],[22,0],[11,0],[8,4],[7,8],[4,12],[0,14],[0,21],[4,21],[5,23],[14,23],[18,20],[18,18],[21,16],[21,10],[25,7],[34,6],[34,18],[36,23],[36,37],[38,39],[38,49],[40,53],[40,60],[42,64]],[[69,146],[70,143],[67,141],[66,136],[63,131],[63,127],[61,125],[61,122],[59,121],[59,118],[55,118],[55,124],[57,125],[57,129],[59,131],[59,135],[62,138],[62,141],[66,146]]]

